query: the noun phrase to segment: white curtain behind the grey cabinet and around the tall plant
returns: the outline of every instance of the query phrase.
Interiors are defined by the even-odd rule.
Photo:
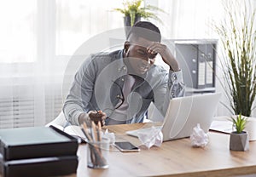
[[[231,0],[232,1],[232,0]],[[236,0],[240,1],[240,0]],[[256,6],[255,0],[250,1],[253,7]],[[246,1],[244,1],[246,2]],[[171,39],[218,39],[218,35],[214,30],[213,24],[218,24],[224,18],[224,6],[226,0],[171,0],[159,1],[159,7],[164,9],[168,14],[163,15],[165,25],[162,31],[166,37]],[[167,24],[167,26],[166,26]],[[218,43],[217,60],[216,60],[216,92],[224,93],[220,83],[224,82],[222,67],[222,49]],[[226,106],[230,102],[223,94],[221,100]],[[254,105],[255,105],[254,101]],[[230,111],[225,106],[218,106],[218,116],[230,115]],[[256,115],[256,109],[252,115]]]

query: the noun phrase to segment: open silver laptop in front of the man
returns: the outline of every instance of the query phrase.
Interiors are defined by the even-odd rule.
[[[209,131],[214,113],[220,100],[220,93],[199,94],[178,97],[170,100],[166,117],[160,128],[163,140],[177,140],[189,137],[193,128],[200,123],[205,133]],[[149,128],[126,131],[126,134],[138,136]]]

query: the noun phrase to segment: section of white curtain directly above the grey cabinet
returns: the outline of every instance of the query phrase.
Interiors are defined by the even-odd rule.
[[[222,15],[221,0],[159,1],[165,21],[163,33],[172,39],[216,38],[212,21]]]

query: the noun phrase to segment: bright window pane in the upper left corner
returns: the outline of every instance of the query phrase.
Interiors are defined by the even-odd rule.
[[[4,1],[0,5],[0,63],[32,62],[36,54],[37,1]]]

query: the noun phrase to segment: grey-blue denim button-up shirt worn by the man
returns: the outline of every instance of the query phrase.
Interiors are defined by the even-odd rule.
[[[63,106],[67,121],[79,125],[79,115],[95,109],[105,111],[111,118],[119,104],[126,74],[122,50],[91,54],[76,73]],[[127,97],[125,123],[143,122],[151,101],[165,116],[169,101],[184,94],[182,71],[168,73],[162,66],[153,65],[145,76],[134,77],[136,81]]]

